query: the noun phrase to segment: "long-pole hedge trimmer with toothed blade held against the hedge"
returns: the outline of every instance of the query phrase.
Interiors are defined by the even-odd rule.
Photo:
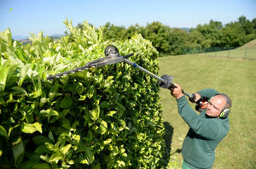
[[[137,65],[136,63],[131,62],[129,59],[126,59],[126,58],[132,56],[133,54],[127,54],[125,56],[120,56],[118,48],[116,48],[113,45],[108,45],[108,47],[105,48],[105,50],[104,50],[104,54],[105,54],[105,57],[103,57],[103,58],[90,61],[86,65],[84,65],[82,67],[78,67],[78,68],[73,69],[73,70],[68,70],[68,71],[65,71],[65,72],[62,72],[62,73],[58,73],[56,75],[49,75],[47,77],[47,79],[52,80],[54,78],[59,78],[61,76],[67,76],[68,74],[75,73],[77,71],[88,70],[92,67],[98,68],[98,67],[102,67],[104,65],[113,65],[113,64],[120,63],[120,62],[125,62],[125,63],[133,66],[134,68],[137,68],[138,70],[143,71],[144,73],[148,74],[149,76],[152,76],[154,79],[158,80],[160,87],[168,88],[170,90],[172,88],[176,87],[174,84],[172,84],[172,81],[173,81],[172,76],[169,76],[169,75],[163,75],[163,76],[154,75],[154,73],[144,69],[143,67],[141,67],[140,65]],[[187,97],[189,97],[190,102],[195,103],[195,94],[194,93],[189,94],[189,93],[185,93],[183,91],[183,94],[186,95]],[[198,100],[196,102],[195,109],[198,110],[198,111],[201,111],[201,110],[205,109],[206,108],[206,103],[207,103],[207,100],[205,100],[205,99]]]

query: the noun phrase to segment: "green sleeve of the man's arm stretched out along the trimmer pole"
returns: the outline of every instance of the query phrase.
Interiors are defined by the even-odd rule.
[[[178,113],[183,117],[183,120],[197,134],[204,138],[215,138],[218,136],[219,128],[217,121],[201,118],[195,113],[185,96],[177,99]]]

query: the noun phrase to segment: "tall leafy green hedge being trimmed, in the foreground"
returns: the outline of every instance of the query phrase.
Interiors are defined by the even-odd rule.
[[[70,33],[55,42],[0,32],[0,168],[163,168],[156,80],[125,63],[46,80],[104,57],[108,44],[157,74],[156,49],[140,35],[103,42],[87,22],[64,23]]]

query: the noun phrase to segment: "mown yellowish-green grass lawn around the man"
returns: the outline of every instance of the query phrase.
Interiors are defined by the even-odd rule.
[[[256,60],[221,59],[202,55],[167,56],[159,58],[160,76],[174,76],[187,93],[215,88],[232,99],[230,132],[218,144],[212,168],[256,167]],[[181,168],[180,153],[189,127],[177,113],[176,100],[170,91],[160,89],[162,109],[171,146],[168,168]],[[195,107],[195,104],[191,104]],[[171,134],[170,134],[171,132]]]

